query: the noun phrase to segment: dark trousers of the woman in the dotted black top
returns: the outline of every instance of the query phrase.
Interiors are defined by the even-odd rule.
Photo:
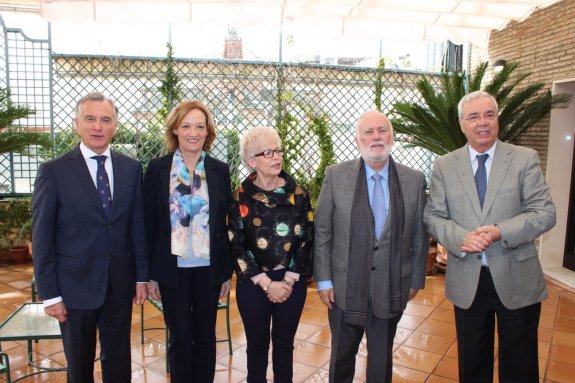
[[[286,270],[267,273],[274,281],[281,281]],[[291,296],[283,303],[272,303],[260,286],[252,281],[236,285],[238,309],[244,322],[247,339],[249,383],[265,383],[268,352],[273,345],[272,362],[275,383],[290,383],[293,379],[293,342],[307,294],[305,278],[293,286]]]

